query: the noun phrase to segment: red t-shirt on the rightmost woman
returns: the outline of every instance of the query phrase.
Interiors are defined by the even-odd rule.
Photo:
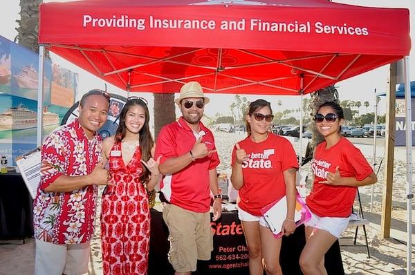
[[[320,183],[326,180],[327,173],[335,173],[336,167],[339,167],[340,176],[356,180],[364,180],[373,172],[365,156],[346,138],[329,149],[326,149],[326,142],[318,144],[311,162],[313,189],[306,198],[306,204],[318,216],[346,218],[351,214],[357,187]]]

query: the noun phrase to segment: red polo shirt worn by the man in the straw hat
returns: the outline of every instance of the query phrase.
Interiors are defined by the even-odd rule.
[[[214,150],[212,132],[199,122],[204,142],[208,150]],[[197,134],[187,126],[183,117],[161,129],[157,138],[155,159],[161,155],[160,164],[169,158],[176,158],[192,150]],[[219,165],[218,154],[212,153],[205,158],[191,162],[187,167],[174,174],[163,176],[160,183],[165,198],[184,209],[204,213],[210,209],[210,175],[209,170]]]

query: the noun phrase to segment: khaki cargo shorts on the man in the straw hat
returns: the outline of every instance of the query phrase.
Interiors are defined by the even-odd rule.
[[[210,260],[213,250],[210,212],[196,213],[167,204],[163,220],[170,233],[169,262],[176,272],[194,272],[197,260]]]

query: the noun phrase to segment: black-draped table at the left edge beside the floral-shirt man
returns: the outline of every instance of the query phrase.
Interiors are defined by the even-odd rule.
[[[20,173],[0,173],[0,239],[33,236],[33,200]]]

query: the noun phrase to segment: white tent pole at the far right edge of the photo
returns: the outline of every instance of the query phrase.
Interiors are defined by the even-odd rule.
[[[409,56],[403,59],[405,67],[405,135],[407,149],[407,275],[412,274],[412,106],[409,80]]]

